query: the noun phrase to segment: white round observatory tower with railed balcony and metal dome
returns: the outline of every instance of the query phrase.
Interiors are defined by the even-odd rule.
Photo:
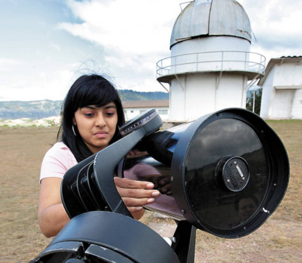
[[[251,40],[249,18],[235,0],[188,4],[172,29],[171,56],[157,62],[157,80],[169,83],[169,120],[245,108],[247,89],[265,69],[265,57],[249,52]]]

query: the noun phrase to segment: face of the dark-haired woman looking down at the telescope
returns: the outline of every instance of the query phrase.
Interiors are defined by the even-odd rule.
[[[74,114],[73,124],[87,147],[96,153],[108,146],[117,125],[117,109],[114,102],[102,107],[88,105]]]

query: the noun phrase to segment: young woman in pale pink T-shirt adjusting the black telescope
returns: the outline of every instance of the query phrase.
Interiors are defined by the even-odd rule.
[[[119,95],[108,80],[100,75],[83,75],[71,86],[63,105],[58,142],[46,153],[41,166],[38,221],[45,236],[55,236],[69,221],[60,196],[65,172],[117,141],[118,127],[124,122]],[[153,203],[160,195],[150,182],[118,177],[114,182],[135,219],[143,216],[143,205]]]

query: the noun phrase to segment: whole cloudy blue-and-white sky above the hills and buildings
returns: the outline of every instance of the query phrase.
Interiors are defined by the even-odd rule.
[[[179,0],[0,0],[0,101],[63,100],[82,74],[118,89],[165,91],[156,62],[170,56]],[[251,52],[302,56],[302,1],[238,0]]]

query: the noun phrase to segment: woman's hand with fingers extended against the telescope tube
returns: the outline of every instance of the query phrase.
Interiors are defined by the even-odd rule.
[[[118,193],[126,207],[135,219],[140,219],[143,214],[143,205],[152,204],[160,192],[154,190],[154,184],[145,181],[135,181],[128,178],[114,177]]]

